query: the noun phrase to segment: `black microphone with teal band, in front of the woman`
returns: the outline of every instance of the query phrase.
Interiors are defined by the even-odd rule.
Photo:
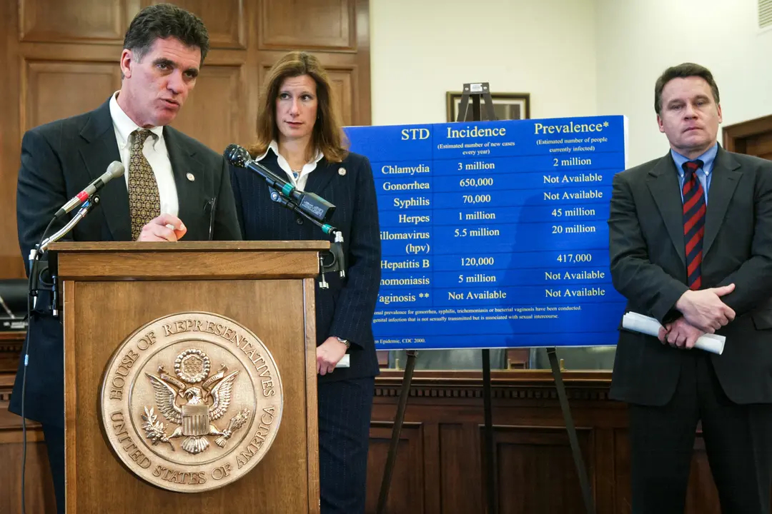
[[[276,174],[266,168],[266,166],[262,166],[262,164],[256,162],[256,160],[253,160],[244,147],[235,144],[228,145],[228,147],[225,148],[223,155],[233,166],[246,168],[247,170],[257,173],[259,176],[262,176],[269,187],[279,191],[286,199],[297,203],[297,207],[302,210],[303,213],[306,213],[309,217],[313,218],[313,220],[317,220],[320,223],[327,223],[327,220],[329,220],[330,216],[335,212],[335,206],[332,203],[324,200],[317,194],[306,193],[305,191],[296,189],[291,183],[276,176]]]

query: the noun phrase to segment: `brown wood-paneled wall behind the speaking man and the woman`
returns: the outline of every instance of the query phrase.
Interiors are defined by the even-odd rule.
[[[151,0],[0,2],[0,278],[24,276],[15,191],[25,130],[100,106],[120,89],[124,33]],[[316,54],[345,125],[371,123],[368,0],[173,0],[212,50],[173,126],[217,152],[256,136],[259,86],[289,50]],[[85,184],[84,184],[85,186]]]

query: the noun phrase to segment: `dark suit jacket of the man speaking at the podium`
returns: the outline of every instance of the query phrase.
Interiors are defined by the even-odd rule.
[[[208,240],[210,213],[205,212],[205,203],[216,197],[212,238],[240,240],[230,176],[222,156],[168,126],[164,127],[164,141],[177,186],[178,217],[188,228],[183,239]],[[25,133],[16,194],[19,246],[25,262],[56,210],[104,173],[114,160],[120,161],[120,153],[109,100],[90,113],[60,119]],[[188,180],[187,173],[192,173],[195,180]],[[107,183],[100,198],[100,205],[78,223],[69,239],[131,240],[125,178]],[[66,221],[55,224],[49,234],[63,227]],[[39,303],[48,301],[49,298],[42,295]],[[27,341],[32,342],[29,345],[25,416],[63,426],[62,324],[48,314],[41,314],[32,322]],[[21,414],[22,370],[20,363],[9,406],[9,410],[17,414]]]

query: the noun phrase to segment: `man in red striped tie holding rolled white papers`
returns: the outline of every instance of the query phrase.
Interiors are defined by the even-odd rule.
[[[662,158],[618,173],[611,277],[659,339],[621,331],[611,398],[630,404],[632,512],[683,512],[702,423],[722,512],[769,512],[772,479],[772,163],[726,152],[708,69],[656,82]],[[723,354],[693,348],[726,336]]]

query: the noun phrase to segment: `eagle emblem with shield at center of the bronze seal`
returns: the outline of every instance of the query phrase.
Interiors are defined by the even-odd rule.
[[[153,445],[168,443],[174,450],[174,438],[183,437],[180,444],[185,452],[198,454],[209,447],[208,437],[217,436],[215,444],[225,448],[233,432],[249,418],[249,409],[237,412],[224,430],[215,425],[231,403],[233,384],[239,371],[228,372],[225,365],[209,376],[210,360],[205,351],[188,348],[174,361],[175,378],[159,366],[157,375],[145,373],[155,391],[155,404],[171,425],[177,425],[167,434],[167,425],[158,420],[154,408],[145,406],[142,428]]]

